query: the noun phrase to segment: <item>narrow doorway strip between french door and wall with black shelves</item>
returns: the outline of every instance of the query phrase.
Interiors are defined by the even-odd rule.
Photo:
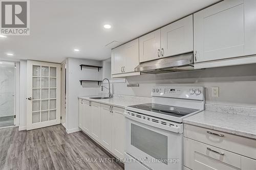
[[[66,128],[66,62],[61,64],[61,124]]]

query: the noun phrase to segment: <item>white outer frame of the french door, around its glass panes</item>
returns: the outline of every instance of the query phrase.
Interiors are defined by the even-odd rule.
[[[43,128],[47,126],[53,126],[60,124],[60,91],[61,91],[61,71],[60,71],[60,64],[58,63],[49,63],[49,62],[41,62],[41,61],[33,61],[28,60],[27,61],[27,98],[32,97],[32,80],[31,84],[29,83],[29,79],[32,79],[33,76],[33,65],[47,65],[49,67],[56,67],[56,119],[54,120],[48,120],[44,125],[39,125],[35,123],[32,124],[32,101],[27,100],[27,130],[37,129],[37,128]],[[49,70],[50,71],[50,70]],[[59,78],[59,79],[58,79]],[[41,95],[41,94],[40,94]],[[40,114],[41,115],[41,114]],[[49,117],[50,118],[50,117]]]

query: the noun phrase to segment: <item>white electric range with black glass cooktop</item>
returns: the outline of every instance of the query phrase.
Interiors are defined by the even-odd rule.
[[[125,107],[125,170],[183,169],[182,120],[204,110],[204,94],[204,87],[156,86],[152,103]]]

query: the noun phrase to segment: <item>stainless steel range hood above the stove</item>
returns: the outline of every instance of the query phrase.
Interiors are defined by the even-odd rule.
[[[143,62],[135,68],[135,71],[141,71],[150,74],[187,70],[194,70],[193,53],[181,54],[177,56]]]

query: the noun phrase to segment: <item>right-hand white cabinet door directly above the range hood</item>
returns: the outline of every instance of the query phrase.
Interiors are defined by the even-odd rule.
[[[193,51],[193,15],[161,28],[161,57]]]

